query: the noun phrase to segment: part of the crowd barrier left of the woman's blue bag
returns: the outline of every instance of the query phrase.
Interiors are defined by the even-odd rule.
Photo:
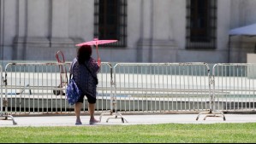
[[[68,82],[62,63],[9,63],[5,67],[4,94],[13,114],[70,112],[65,101]]]

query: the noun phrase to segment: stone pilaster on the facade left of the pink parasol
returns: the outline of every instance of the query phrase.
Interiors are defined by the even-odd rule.
[[[33,57],[38,48],[49,48],[46,30],[46,1],[18,1],[18,34],[15,37],[16,60],[27,60]]]

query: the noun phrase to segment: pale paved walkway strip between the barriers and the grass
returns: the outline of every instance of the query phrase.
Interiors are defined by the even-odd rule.
[[[120,118],[105,115],[102,122],[95,125],[134,125],[134,124],[216,124],[216,123],[255,123],[255,114],[226,114],[226,121],[223,118],[209,117],[203,120],[205,115],[201,115],[196,121],[197,114],[163,114],[163,115],[124,115],[128,123],[122,123]],[[99,118],[99,116],[96,116]],[[106,123],[107,118],[111,118]],[[89,126],[89,116],[81,116],[83,122],[80,126]],[[49,117],[15,117],[17,125],[13,125],[11,120],[0,120],[0,127],[39,127],[39,126],[75,126],[74,116],[49,116]]]

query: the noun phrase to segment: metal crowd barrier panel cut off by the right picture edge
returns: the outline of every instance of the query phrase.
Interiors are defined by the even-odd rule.
[[[213,67],[214,109],[252,112],[256,109],[256,64],[216,64]]]

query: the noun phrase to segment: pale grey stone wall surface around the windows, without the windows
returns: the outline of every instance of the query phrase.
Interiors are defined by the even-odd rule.
[[[256,22],[256,1],[217,1],[217,48],[211,50],[186,49],[186,2],[128,0],[127,47],[100,47],[102,60],[229,62],[229,30]],[[94,1],[2,0],[0,22],[1,60],[55,60],[57,50],[72,60],[74,45],[93,39]],[[246,49],[244,41],[238,42],[230,49],[230,62],[246,62],[254,49],[254,39]]]

